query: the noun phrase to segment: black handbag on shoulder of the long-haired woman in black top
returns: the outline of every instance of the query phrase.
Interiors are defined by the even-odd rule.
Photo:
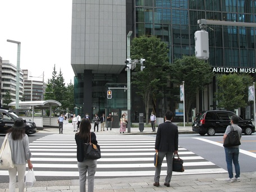
[[[93,144],[91,141],[90,133],[90,142],[84,143],[84,155],[86,159],[99,159],[101,158],[100,147],[98,144]]]

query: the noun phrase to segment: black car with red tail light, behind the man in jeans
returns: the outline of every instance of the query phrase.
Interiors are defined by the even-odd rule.
[[[216,133],[225,133],[226,128],[230,125],[232,115],[236,115],[231,111],[203,111],[198,113],[196,120],[192,125],[192,130],[198,132],[200,135],[215,135]],[[245,135],[251,135],[255,132],[255,126],[251,121],[243,120],[239,117],[238,125],[243,130]]]

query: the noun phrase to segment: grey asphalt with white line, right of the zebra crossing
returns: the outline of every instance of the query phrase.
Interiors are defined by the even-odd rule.
[[[214,136],[180,135],[179,145],[227,170],[222,138],[223,134]],[[252,166],[252,163],[256,162],[255,142],[256,134],[242,135],[239,155],[241,172],[256,171],[256,166]]]

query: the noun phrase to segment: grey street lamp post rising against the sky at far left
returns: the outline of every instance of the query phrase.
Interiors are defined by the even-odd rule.
[[[16,43],[18,45],[15,108],[16,108],[16,114],[19,115],[19,100],[20,100],[20,47],[21,47],[21,42],[16,42],[15,40],[10,40],[10,39],[7,39],[7,42]]]

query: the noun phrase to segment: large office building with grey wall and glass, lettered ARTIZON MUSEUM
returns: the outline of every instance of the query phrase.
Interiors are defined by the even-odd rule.
[[[80,6],[77,5],[77,2],[81,3]],[[102,2],[102,4],[101,4]],[[103,3],[105,2],[105,3]],[[106,3],[108,2],[108,3]],[[86,33],[93,33],[100,29],[100,25],[103,25],[104,33],[99,33],[99,36],[104,36],[103,39],[96,39],[98,44],[102,43],[102,40],[105,38],[110,38],[111,45],[106,45],[108,51],[110,49],[110,54],[108,55],[108,60],[105,60],[103,64],[105,68],[103,71],[95,70],[93,67],[100,68],[100,59],[95,60],[95,62],[81,61],[80,63],[74,62],[73,59],[71,64],[75,71],[75,102],[77,108],[84,108],[86,100],[90,100],[91,106],[87,107],[86,110],[89,113],[95,113],[93,109],[98,108],[98,112],[106,111],[106,108],[109,110],[112,109],[112,106],[109,106],[109,100],[106,98],[108,83],[116,84],[116,86],[121,86],[126,83],[126,71],[124,60],[126,58],[126,35],[128,31],[133,31],[133,36],[147,35],[152,36],[156,35],[166,42],[169,48],[169,58],[170,65],[175,58],[181,58],[182,55],[192,56],[195,54],[195,40],[194,33],[199,29],[198,20],[207,19],[215,21],[232,21],[234,26],[223,26],[223,25],[209,25],[207,31],[209,33],[209,59],[208,62],[212,67],[217,67],[218,69],[222,67],[236,67],[241,68],[241,72],[248,72],[248,68],[255,68],[255,38],[256,31],[255,28],[248,26],[235,26],[235,22],[256,22],[256,1],[239,1],[239,0],[120,0],[120,1],[73,1],[73,20],[72,20],[72,42],[76,41],[76,45],[72,43],[72,58],[77,58],[81,52],[84,54],[92,55],[94,57],[100,58],[100,47],[91,44],[92,39],[86,38],[77,38],[77,12],[80,12],[79,9],[83,7],[88,7],[89,5],[98,7],[90,9],[94,15],[90,15],[90,22],[84,22],[83,25],[88,27]],[[106,5],[107,4],[107,5]],[[108,14],[106,15],[106,10],[103,11],[103,7],[108,7]],[[83,11],[81,11],[83,12]],[[86,8],[85,8],[86,12]],[[119,14],[116,19],[123,19],[121,22],[116,22],[112,17],[112,22],[108,21],[108,24],[104,22],[99,22],[98,17],[104,13],[104,18],[108,19],[116,14]],[[83,14],[82,14],[83,15]],[[86,16],[86,13],[85,13]],[[81,16],[83,17],[83,16]],[[94,18],[93,18],[94,17]],[[83,18],[82,18],[83,19]],[[106,18],[105,18],[106,19]],[[76,23],[75,23],[76,21]],[[86,19],[85,19],[86,21]],[[94,21],[97,21],[97,24],[93,24],[94,30],[90,30],[90,25]],[[106,25],[106,26],[104,26]],[[117,30],[121,28],[120,38],[121,44],[117,48],[115,44],[115,30],[109,30],[107,27]],[[124,29],[125,28],[125,29]],[[106,31],[108,31],[108,36],[106,36]],[[111,35],[112,33],[112,35]],[[110,36],[110,37],[109,37]],[[113,38],[114,37],[114,38]],[[95,40],[95,38],[94,38]],[[85,47],[87,45],[88,49],[79,50],[77,49],[77,44],[83,44]],[[118,40],[117,40],[118,42]],[[109,42],[108,42],[109,43]],[[92,53],[93,49],[98,54]],[[88,52],[89,50],[89,52]],[[121,50],[121,52],[120,52]],[[119,52],[117,52],[119,51]],[[91,54],[92,53],[92,54]],[[115,57],[118,55],[118,62],[115,63]],[[85,57],[84,57],[85,58]],[[112,58],[112,59],[110,59]],[[120,59],[120,60],[119,60]],[[90,61],[90,60],[88,60]],[[116,70],[109,70],[109,67],[114,65]],[[78,67],[79,68],[78,68]],[[91,66],[91,67],[90,67]],[[79,70],[77,70],[79,69]],[[214,68],[214,72],[220,72]],[[88,74],[88,71],[89,74]],[[86,80],[86,82],[85,82]],[[87,84],[87,85],[86,85]],[[92,90],[87,92],[87,90]],[[213,94],[216,91],[215,79],[213,79],[213,84],[205,86],[203,93],[198,93],[193,108],[196,108],[196,111],[202,111],[207,109],[215,109],[216,103],[213,102]],[[87,96],[85,96],[87,95]],[[126,104],[126,95],[122,94],[124,102],[120,104],[121,108],[125,108]],[[87,99],[90,98],[90,99]],[[120,102],[118,99],[118,102]],[[113,103],[113,100],[112,100]],[[141,106],[143,102],[140,102],[140,99],[132,92],[132,106],[131,112],[135,119],[136,112],[144,112],[144,107]],[[157,108],[157,116],[163,116],[163,110],[171,109],[174,111],[176,106],[179,105],[179,100],[163,99],[159,100]],[[89,103],[88,103],[89,104]],[[118,107],[118,105],[116,105]],[[82,109],[81,112],[85,112],[85,109]],[[108,112],[108,111],[107,111]]]

